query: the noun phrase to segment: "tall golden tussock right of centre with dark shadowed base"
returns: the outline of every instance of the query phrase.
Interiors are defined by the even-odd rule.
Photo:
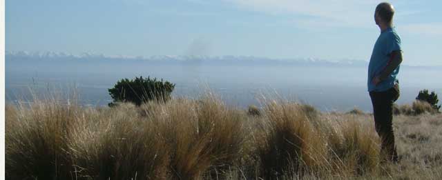
[[[311,113],[295,103],[267,104],[257,143],[263,177],[305,174],[320,166],[325,147],[311,122],[316,119],[309,119]]]

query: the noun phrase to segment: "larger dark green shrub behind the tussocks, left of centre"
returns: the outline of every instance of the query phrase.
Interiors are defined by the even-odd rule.
[[[108,89],[113,99],[113,103],[109,103],[109,106],[119,102],[131,102],[140,106],[142,103],[152,100],[167,101],[174,88],[174,83],[163,81],[163,79],[161,81],[150,77],[147,79],[143,77],[135,77],[132,80],[122,79],[115,84],[114,88]]]

